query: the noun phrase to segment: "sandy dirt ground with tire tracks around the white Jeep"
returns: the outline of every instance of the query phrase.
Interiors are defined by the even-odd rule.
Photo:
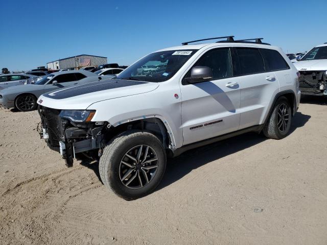
[[[327,105],[302,99],[283,140],[245,134],[170,159],[127,202],[98,164],[66,168],[36,111],[0,109],[0,244],[327,244]]]

